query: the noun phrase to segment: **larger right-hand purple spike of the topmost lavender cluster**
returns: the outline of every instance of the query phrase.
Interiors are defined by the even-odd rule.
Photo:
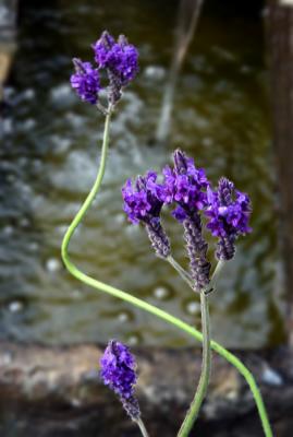
[[[93,48],[99,69],[107,69],[110,82],[109,101],[114,105],[122,95],[122,87],[129,85],[138,72],[138,51],[129,44],[124,35],[120,35],[115,43],[107,31]]]

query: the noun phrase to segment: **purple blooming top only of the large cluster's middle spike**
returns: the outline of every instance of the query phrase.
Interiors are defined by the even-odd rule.
[[[206,188],[209,181],[203,168],[196,168],[193,158],[188,158],[180,150],[174,152],[174,168],[163,169],[164,185],[162,200],[166,203],[175,202],[173,216],[183,222],[206,205]]]

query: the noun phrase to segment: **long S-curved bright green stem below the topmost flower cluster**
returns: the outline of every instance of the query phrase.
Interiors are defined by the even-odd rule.
[[[62,255],[63,262],[64,262],[66,269],[69,270],[69,272],[73,276],[75,276],[83,283],[85,283],[86,285],[93,286],[94,288],[96,288],[100,292],[108,293],[109,295],[111,295],[113,297],[118,297],[118,298],[120,298],[124,302],[127,302],[149,314],[152,314],[154,316],[164,320],[166,322],[168,322],[170,324],[173,324],[174,327],[176,327],[176,328],[181,329],[182,331],[186,332],[187,334],[192,335],[197,341],[203,342],[203,334],[199,331],[197,331],[195,328],[183,322],[182,320],[178,319],[176,317],[171,316],[167,311],[163,311],[160,308],[157,308],[142,299],[138,299],[137,297],[134,297],[126,292],[123,292],[119,288],[115,288],[111,285],[105,284],[101,281],[97,281],[94,277],[88,276],[87,274],[83,273],[80,269],[77,269],[74,265],[74,263],[70,260],[70,257],[68,253],[68,247],[69,247],[70,239],[71,239],[72,235],[74,234],[76,227],[83,220],[84,215],[86,214],[86,211],[88,210],[93,200],[95,199],[95,197],[100,188],[102,177],[105,174],[108,143],[109,143],[109,128],[110,128],[111,114],[112,114],[112,111],[110,109],[106,117],[100,165],[99,165],[99,170],[98,170],[96,181],[94,182],[94,186],[93,186],[89,194],[87,196],[85,202],[83,203],[80,211],[77,212],[77,214],[73,218],[72,223],[70,224],[70,226],[64,235],[63,241],[62,241],[61,255]],[[260,417],[260,421],[263,424],[264,433],[265,433],[266,437],[272,437],[272,432],[271,432],[271,427],[270,427],[269,420],[267,416],[266,408],[265,408],[260,391],[256,385],[256,381],[255,381],[252,373],[244,366],[244,364],[235,355],[233,355],[231,352],[227,351],[219,343],[211,341],[210,346],[215,352],[217,352],[218,354],[223,356],[229,363],[231,363],[233,366],[235,366],[236,369],[240,371],[240,374],[243,375],[243,377],[246,379],[246,381],[252,390],[252,393],[254,395],[256,405],[257,405],[257,410],[258,410],[258,414],[259,414],[259,417]]]

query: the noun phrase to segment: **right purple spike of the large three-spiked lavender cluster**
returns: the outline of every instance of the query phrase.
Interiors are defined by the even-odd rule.
[[[235,255],[236,238],[252,231],[248,226],[251,200],[224,177],[219,180],[217,191],[207,189],[207,227],[219,238],[216,256],[219,260],[228,261]]]

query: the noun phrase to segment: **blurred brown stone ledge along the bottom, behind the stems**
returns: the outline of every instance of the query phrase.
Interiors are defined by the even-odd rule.
[[[0,345],[1,436],[122,437],[139,433],[98,378],[103,347]],[[137,395],[152,437],[174,436],[194,394],[199,350],[137,349]],[[293,353],[236,353],[255,375],[276,436],[293,435]],[[213,354],[211,383],[194,435],[263,436],[254,400],[237,371]]]

